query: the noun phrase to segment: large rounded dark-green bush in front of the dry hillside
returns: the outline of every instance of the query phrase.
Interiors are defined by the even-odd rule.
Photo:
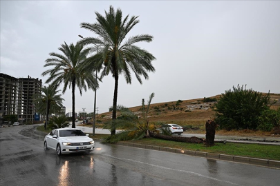
[[[220,96],[215,106],[214,121],[226,130],[256,129],[259,125],[259,116],[269,110],[270,93],[263,95],[246,86],[226,90]]]

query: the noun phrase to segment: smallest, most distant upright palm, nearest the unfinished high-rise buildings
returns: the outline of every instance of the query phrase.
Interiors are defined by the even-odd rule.
[[[35,94],[35,107],[36,111],[40,114],[46,114],[46,121],[48,121],[48,116],[53,113],[57,113],[62,110],[62,101],[64,99],[61,97],[61,94],[57,94],[60,90],[52,86],[44,86],[41,87],[41,93],[43,94]],[[46,129],[47,123],[45,123]]]

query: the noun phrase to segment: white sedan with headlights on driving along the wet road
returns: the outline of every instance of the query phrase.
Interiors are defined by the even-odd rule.
[[[44,149],[55,149],[57,155],[76,152],[91,152],[95,143],[88,134],[75,128],[60,128],[52,130],[44,138]]]

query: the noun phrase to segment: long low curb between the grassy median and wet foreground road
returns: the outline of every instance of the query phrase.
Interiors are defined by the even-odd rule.
[[[270,167],[274,169],[280,169],[280,161],[273,161],[268,159],[261,159],[261,158],[248,158],[243,156],[231,156],[227,154],[214,154],[208,152],[200,152],[200,151],[191,151],[191,150],[183,150],[183,149],[174,149],[169,147],[158,147],[153,145],[142,145],[142,144],[134,144],[134,143],[127,143],[127,142],[118,142],[117,145],[124,145],[129,147],[137,147],[142,149],[154,149],[158,151],[164,152],[172,152],[177,154],[185,154],[188,156],[199,156],[203,158],[210,158],[216,159],[221,161],[232,161],[236,163],[245,163],[250,165],[259,165],[263,167]]]

